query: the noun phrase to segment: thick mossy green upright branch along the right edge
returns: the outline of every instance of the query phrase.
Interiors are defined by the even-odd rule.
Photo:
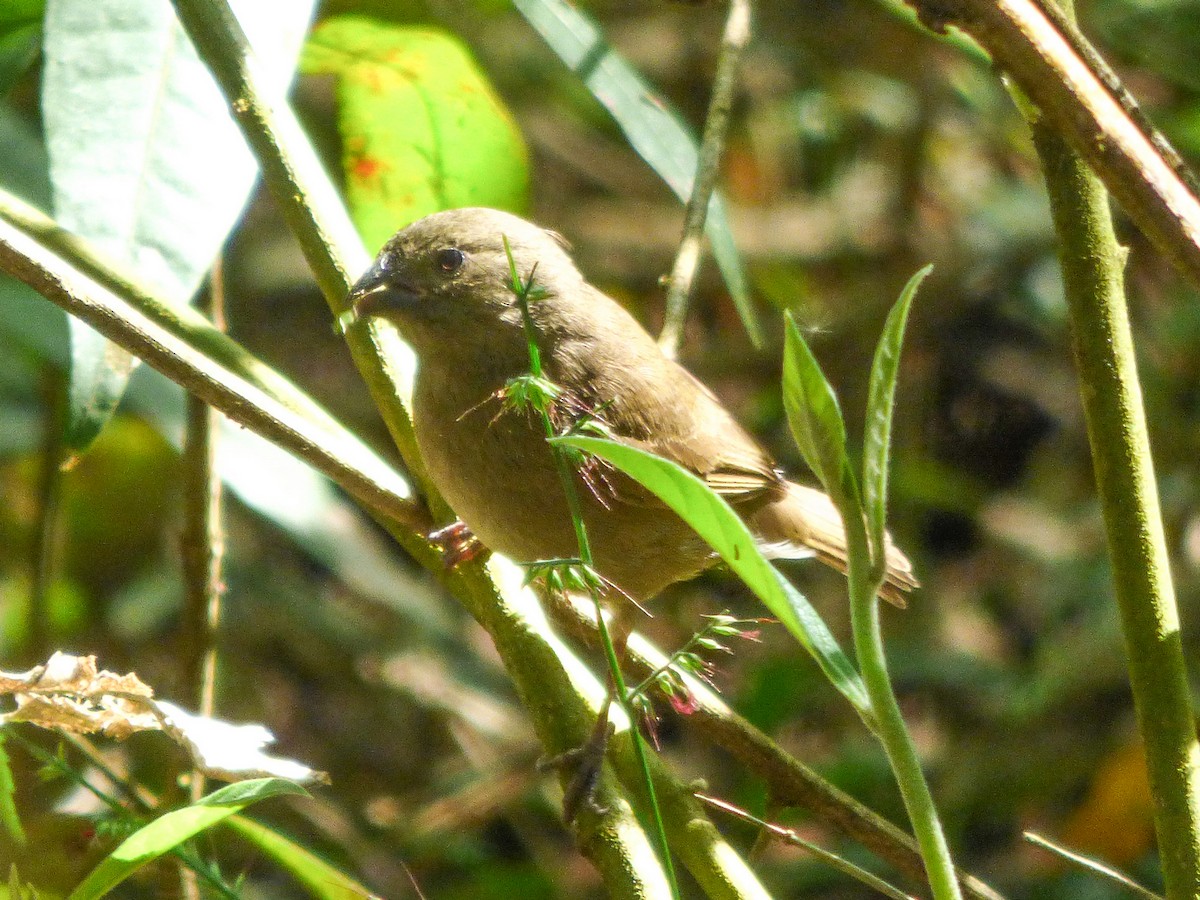
[[[1200,749],[1126,306],[1126,252],[1099,178],[1051,124],[1033,119],[1166,895],[1190,899],[1200,896]]]

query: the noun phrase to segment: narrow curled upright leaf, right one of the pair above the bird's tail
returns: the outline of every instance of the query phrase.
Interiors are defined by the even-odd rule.
[[[900,299],[896,300],[875,348],[871,362],[871,386],[866,398],[866,428],[863,436],[863,506],[871,535],[871,553],[876,566],[882,566],[883,533],[888,508],[888,456],[892,449],[892,410],[895,406],[896,376],[900,371],[900,348],[904,343],[908,310],[917,288],[932,271],[926,265],[913,275]]]

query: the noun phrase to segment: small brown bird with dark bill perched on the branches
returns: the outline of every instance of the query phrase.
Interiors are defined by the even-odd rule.
[[[358,317],[384,316],[418,356],[413,426],[430,478],[491,550],[518,562],[578,554],[541,422],[503,406],[509,379],[529,371],[512,292],[508,239],[530,302],[562,421],[592,415],[607,432],[702,478],[769,556],[816,556],[845,570],[846,540],[829,498],[787,481],[720,401],[667,359],[646,330],[575,268],[565,241],[506,212],[457,209],[396,233],[350,293]],[[576,475],[595,568],[636,601],[716,562],[653,494],[619,473]],[[883,595],[917,586],[888,547]]]

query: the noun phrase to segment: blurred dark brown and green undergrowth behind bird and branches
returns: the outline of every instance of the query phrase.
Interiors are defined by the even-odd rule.
[[[562,232],[592,281],[655,329],[682,208],[526,22],[500,4],[456,0],[330,2],[322,14],[344,11],[439,25],[470,47],[528,143],[530,217]],[[587,11],[698,130],[725,8],[601,0]],[[1151,118],[1194,160],[1200,6],[1102,0],[1080,13]],[[35,64],[7,97],[34,134],[37,78]],[[302,79],[295,102],[336,168],[331,83]],[[1159,887],[1054,235],[1026,130],[996,73],[878,4],[763,2],[721,187],[769,338],[751,347],[706,264],[682,360],[793,473],[803,464],[780,400],[781,311],[806,329],[857,442],[887,311],[917,268],[935,264],[905,348],[890,514],[924,588],[907,611],[884,618],[958,862],[1014,898],[1118,895],[1025,845],[1021,832],[1032,829]],[[1200,305],[1120,212],[1117,221],[1130,250],[1130,314],[1192,654]],[[265,196],[229,242],[226,277],[230,334],[394,456]],[[174,692],[179,461],[161,415],[148,415],[162,385],[137,376],[116,420],[64,476],[47,526],[43,449],[55,440],[65,331],[46,302],[6,304],[0,667],[28,667],[53,648],[96,653],[106,668],[136,670],[186,704]],[[288,492],[286,482],[280,490]],[[329,510],[341,516],[344,505],[293,499],[298,516],[335,529],[334,538],[230,496],[217,708],[266,724],[282,754],[330,772],[334,784],[313,802],[275,804],[263,816],[383,896],[414,895],[409,875],[431,898],[598,893],[557,818],[557,788],[534,770],[536,744],[486,636],[365,517],[334,521]],[[35,647],[25,611],[46,527],[50,616]],[[811,564],[790,571],[845,636],[842,580]],[[640,624],[671,648],[702,613],[724,608],[758,614],[736,582],[710,574],[670,592]],[[878,746],[779,629],[761,644],[739,642],[719,666],[737,709],[904,821]],[[763,814],[762,782],[661,706],[664,752],[678,769]],[[71,815],[70,804],[82,802],[67,785],[40,781],[32,761],[10,752],[26,827],[48,848],[24,859],[22,875],[67,889],[103,844]],[[110,752],[163,790],[179,764],[156,737]],[[803,810],[769,815],[868,859]],[[728,833],[746,850],[756,836],[738,824]],[[254,854],[223,852],[227,871],[245,875],[247,896],[298,890]],[[868,895],[778,845],[762,847],[756,865],[779,896]],[[148,896],[164,883],[148,875],[122,889]]]

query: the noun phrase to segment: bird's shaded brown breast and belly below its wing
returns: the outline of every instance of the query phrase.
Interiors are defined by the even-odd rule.
[[[500,413],[498,401],[466,414],[450,414],[445,401],[431,402],[419,384],[414,426],[430,478],[458,517],[488,548],[517,562],[578,556],[541,424],[523,412]],[[575,481],[596,569],[635,599],[712,563],[708,547],[670,510],[607,496],[601,502],[581,478]]]

